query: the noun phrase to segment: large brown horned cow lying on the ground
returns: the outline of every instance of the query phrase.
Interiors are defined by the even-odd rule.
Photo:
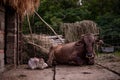
[[[92,65],[95,57],[95,43],[96,38],[90,33],[82,35],[77,42],[52,46],[47,63],[49,66],[52,66],[53,60],[55,60],[60,64]]]

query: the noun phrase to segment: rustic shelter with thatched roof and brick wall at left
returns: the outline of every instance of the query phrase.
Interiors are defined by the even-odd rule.
[[[38,8],[40,0],[0,0],[0,72],[20,64],[22,20]]]

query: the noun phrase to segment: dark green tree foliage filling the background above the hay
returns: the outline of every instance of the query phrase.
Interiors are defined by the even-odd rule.
[[[89,19],[98,24],[103,37],[113,37],[118,42],[116,38],[120,37],[120,0],[82,0],[82,6],[77,5],[77,2],[78,0],[41,0],[38,13],[57,33],[61,23]],[[45,33],[43,28],[46,25],[37,16],[32,16],[30,21],[35,33]],[[29,33],[27,21],[24,22],[23,32]],[[52,34],[50,30],[47,32]]]

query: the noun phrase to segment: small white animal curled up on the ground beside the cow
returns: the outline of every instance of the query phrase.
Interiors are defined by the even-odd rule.
[[[36,68],[44,69],[48,67],[48,65],[45,63],[43,58],[36,58],[36,57],[29,59],[28,66],[31,69],[36,69]]]

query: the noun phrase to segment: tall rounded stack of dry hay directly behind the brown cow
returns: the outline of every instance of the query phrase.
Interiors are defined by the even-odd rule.
[[[61,30],[66,42],[77,41],[82,34],[99,33],[97,24],[90,20],[83,20],[76,23],[64,23],[61,25]]]

